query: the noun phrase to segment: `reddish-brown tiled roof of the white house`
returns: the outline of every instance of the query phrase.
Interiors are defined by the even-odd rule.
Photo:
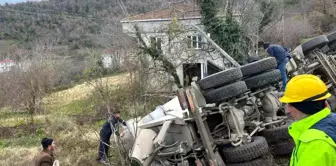
[[[162,10],[156,10],[127,17],[123,19],[122,22],[163,20],[174,17],[178,19],[201,18],[200,11],[201,10],[197,5],[178,3],[170,5],[169,7]]]

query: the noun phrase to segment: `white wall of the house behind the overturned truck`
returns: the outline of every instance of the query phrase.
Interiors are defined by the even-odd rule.
[[[175,44],[170,45],[168,43],[168,35],[165,33],[168,25],[171,23],[170,19],[161,19],[161,20],[145,20],[145,21],[122,21],[122,27],[124,33],[135,37],[135,28],[137,25],[141,31],[142,38],[147,45],[151,44],[151,37],[155,37],[155,40],[160,38],[161,40],[161,50],[165,55],[169,55],[171,62],[174,62],[176,66],[176,71],[179,76],[180,82],[183,83],[183,63],[200,63],[202,68],[202,76],[207,75],[207,61],[211,61],[213,64],[217,65],[220,68],[225,68],[225,64],[222,56],[219,52],[207,52],[201,48],[201,45],[197,42],[190,43],[190,48],[187,45],[182,45],[181,41],[187,41],[188,36],[191,36],[192,39],[196,39],[202,43],[207,43],[206,39],[201,36],[197,31],[190,30],[184,34],[181,34],[178,38],[175,39]],[[178,24],[182,25],[184,28],[192,28],[193,25],[200,25],[201,18],[189,18],[189,19],[180,19]],[[203,26],[199,26],[203,28]],[[195,37],[193,37],[195,36]],[[199,37],[197,37],[199,36]],[[171,43],[172,43],[171,42]],[[173,47],[172,47],[173,46]]]

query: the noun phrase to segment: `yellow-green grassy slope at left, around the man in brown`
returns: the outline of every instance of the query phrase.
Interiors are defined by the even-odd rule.
[[[128,75],[120,74],[103,78],[103,81],[114,86],[124,83],[127,78]],[[82,114],[84,107],[87,108],[91,104],[88,97],[92,90],[92,86],[81,84],[47,96],[44,100],[46,113],[35,116],[40,124],[35,134],[0,139],[0,165],[29,165],[34,155],[41,150],[39,140],[44,136],[52,136],[56,139],[58,146],[56,156],[62,166],[96,165],[94,159],[97,155],[101,122],[78,125],[73,118],[75,115]],[[85,113],[93,115],[92,111]],[[9,109],[0,111],[2,127],[18,126],[27,122],[25,112],[10,112]]]

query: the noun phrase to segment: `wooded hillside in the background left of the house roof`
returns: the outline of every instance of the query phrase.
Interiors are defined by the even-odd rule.
[[[100,40],[101,37],[120,33],[121,18],[164,5],[149,2],[51,0],[7,4],[0,10],[1,34],[4,39],[16,40],[27,48],[33,47],[36,40],[52,40],[70,49],[103,48],[106,41]],[[125,6],[127,11],[123,9]]]

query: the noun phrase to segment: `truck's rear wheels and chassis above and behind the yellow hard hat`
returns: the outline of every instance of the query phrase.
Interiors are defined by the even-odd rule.
[[[314,74],[319,76],[333,94],[330,102],[332,109],[336,108],[336,32],[316,36],[297,46],[292,52],[292,59],[287,64],[289,77],[299,74]]]

